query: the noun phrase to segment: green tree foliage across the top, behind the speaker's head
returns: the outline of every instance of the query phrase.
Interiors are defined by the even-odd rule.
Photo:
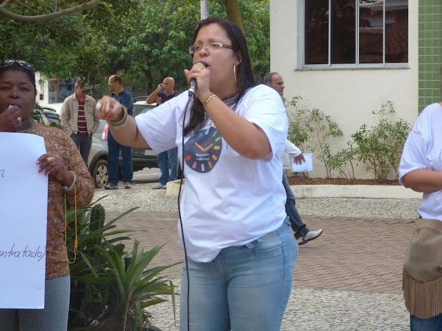
[[[81,0],[10,1],[18,14],[44,14]],[[57,4],[57,6],[55,5]],[[240,1],[252,64],[260,77],[269,72],[269,0]],[[227,17],[221,0],[210,1],[210,14]],[[1,15],[1,14],[0,14]],[[86,77],[94,97],[107,94],[107,79],[119,73],[133,95],[146,95],[164,77],[177,90],[191,66],[188,48],[200,20],[199,1],[106,0],[96,8],[50,21],[22,22],[2,17],[2,59],[26,59],[47,77]]]

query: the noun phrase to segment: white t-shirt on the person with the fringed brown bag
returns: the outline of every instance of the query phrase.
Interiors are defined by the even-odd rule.
[[[408,135],[399,165],[399,183],[416,169],[442,171],[442,107],[427,106],[416,119]],[[442,221],[442,190],[423,193],[418,212],[423,219]]]

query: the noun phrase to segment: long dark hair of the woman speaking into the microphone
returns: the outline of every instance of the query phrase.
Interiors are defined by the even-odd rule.
[[[193,34],[193,43],[195,43],[198,32],[200,32],[201,28],[213,23],[218,24],[227,33],[227,36],[232,43],[233,52],[238,54],[238,57],[240,58],[240,64],[236,66],[238,90],[236,90],[236,93],[233,94],[233,97],[231,97],[233,108],[236,108],[236,105],[238,104],[244,93],[247,91],[247,89],[256,86],[256,75],[251,68],[249,48],[247,48],[246,37],[244,36],[244,33],[242,33],[242,30],[238,28],[238,26],[233,24],[231,21],[227,21],[226,19],[218,19],[215,17],[209,17],[200,21],[195,34]],[[184,128],[184,135],[202,129],[207,121],[207,113],[202,106],[202,102],[195,96],[193,98],[194,99],[191,108],[191,119],[186,128]]]

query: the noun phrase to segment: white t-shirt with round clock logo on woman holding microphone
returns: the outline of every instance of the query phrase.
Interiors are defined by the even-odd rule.
[[[188,99],[188,92],[183,92],[135,118],[155,152],[177,146],[180,161]],[[184,137],[186,180],[180,206],[186,250],[193,261],[212,261],[223,248],[244,245],[280,228],[286,217],[281,181],[287,137],[284,104],[275,90],[260,85],[249,89],[234,111],[267,134],[272,152],[260,160],[242,157],[210,120],[199,132]],[[190,107],[186,121],[189,117]],[[178,232],[183,247],[179,224]]]

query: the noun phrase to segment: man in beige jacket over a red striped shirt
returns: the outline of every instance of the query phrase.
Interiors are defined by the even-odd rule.
[[[60,112],[61,126],[77,145],[86,165],[92,146],[92,135],[99,126],[99,119],[95,114],[96,102],[93,97],[84,93],[87,89],[86,81],[83,78],[77,79],[75,93],[64,99]]]

